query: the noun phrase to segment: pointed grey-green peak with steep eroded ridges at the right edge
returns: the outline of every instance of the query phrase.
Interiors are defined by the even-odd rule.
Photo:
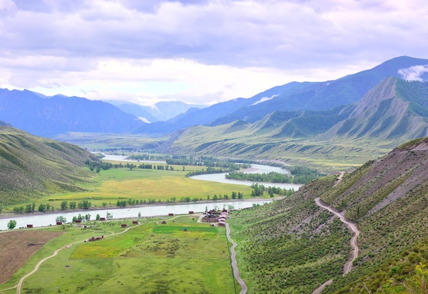
[[[399,144],[428,135],[428,83],[389,77],[369,91],[349,118],[323,137]]]

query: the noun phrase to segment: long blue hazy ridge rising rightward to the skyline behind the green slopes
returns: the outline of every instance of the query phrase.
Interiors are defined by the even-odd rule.
[[[292,82],[271,88],[251,98],[237,98],[218,103],[205,109],[186,113],[167,125],[142,124],[135,132],[165,134],[195,125],[215,126],[235,120],[256,122],[274,111],[323,110],[351,105],[359,101],[364,94],[386,77],[402,78],[412,72],[417,72],[418,69],[415,66],[426,64],[428,64],[428,59],[397,57],[370,70],[334,81]],[[427,74],[421,72],[420,79],[425,79]]]

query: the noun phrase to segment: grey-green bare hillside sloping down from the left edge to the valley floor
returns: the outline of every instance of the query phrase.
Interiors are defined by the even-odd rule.
[[[0,126],[0,204],[33,200],[49,193],[80,191],[88,181],[85,160],[96,157],[75,145]]]

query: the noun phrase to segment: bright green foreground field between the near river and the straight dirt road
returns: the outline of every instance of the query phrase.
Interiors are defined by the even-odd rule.
[[[49,241],[0,292],[16,293],[2,289],[17,284],[55,249],[103,235],[102,241],[72,245],[46,260],[25,280],[22,293],[235,293],[224,228],[198,224],[196,218],[183,215],[165,219],[167,224],[140,219],[146,223],[140,226],[128,220],[135,228],[113,236],[124,230],[123,222],[98,222],[86,230],[66,226],[66,234]]]

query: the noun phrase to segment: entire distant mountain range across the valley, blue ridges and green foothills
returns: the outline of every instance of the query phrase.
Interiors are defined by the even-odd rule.
[[[155,151],[172,154],[325,161],[334,157],[361,164],[428,135],[428,76],[421,70],[427,64],[428,59],[402,56],[334,81],[287,83],[203,109],[170,104],[190,108],[151,123],[144,122],[152,114],[142,112],[147,109],[141,105],[0,90],[0,120],[81,146],[77,132],[93,133],[92,142],[99,133],[115,133],[124,138],[151,137]],[[417,81],[406,81],[414,73],[418,75],[412,79]],[[168,112],[165,109],[163,113]],[[159,137],[157,142],[153,137]],[[112,141],[116,146],[111,147],[119,148],[129,139]]]

